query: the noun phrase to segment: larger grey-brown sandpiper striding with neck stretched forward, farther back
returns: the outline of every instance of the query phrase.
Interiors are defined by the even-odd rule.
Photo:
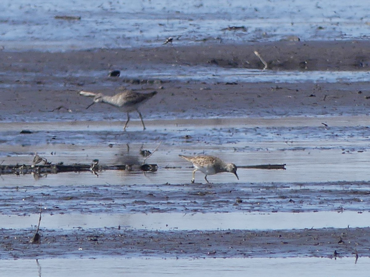
[[[141,119],[142,127],[144,128],[144,130],[146,129],[144,121],[142,120],[141,113],[138,110],[138,107],[156,94],[157,94],[156,91],[153,91],[151,93],[140,93],[134,92],[132,90],[125,90],[123,92],[117,93],[116,95],[108,96],[102,93],[87,92],[83,90],[80,91],[80,95],[94,98],[94,102],[92,102],[86,109],[88,109],[95,103],[102,102],[121,108],[125,112],[127,112],[127,121],[125,123],[125,127],[123,127],[123,130],[126,130],[127,123],[130,120],[129,112],[132,112],[134,110],[138,112]]]

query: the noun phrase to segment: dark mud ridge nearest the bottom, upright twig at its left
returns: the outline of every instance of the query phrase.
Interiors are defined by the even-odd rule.
[[[42,225],[42,223],[41,223]],[[370,228],[147,231],[2,229],[0,259],[114,255],[196,257],[369,257]]]

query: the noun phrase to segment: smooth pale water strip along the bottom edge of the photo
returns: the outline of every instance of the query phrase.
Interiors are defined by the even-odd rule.
[[[369,258],[232,258],[232,259],[38,259],[0,260],[6,276],[368,276]],[[290,274],[292,273],[292,274]]]

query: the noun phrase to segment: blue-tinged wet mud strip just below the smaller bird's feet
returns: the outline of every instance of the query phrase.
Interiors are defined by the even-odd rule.
[[[164,171],[165,169],[159,168]],[[174,169],[179,171],[180,169]],[[289,170],[289,168],[288,168]],[[184,170],[186,171],[186,170]],[[191,169],[187,170],[188,172]],[[261,170],[263,173],[263,170]],[[76,173],[78,174],[78,173]],[[100,173],[112,175],[106,171]],[[142,174],[142,173],[137,173]],[[146,173],[150,174],[150,173]],[[153,173],[152,173],[153,174]],[[277,173],[278,174],[278,173]],[[81,174],[90,177],[87,173]],[[89,174],[92,175],[92,174]],[[150,176],[150,175],[149,175]],[[190,176],[190,174],[189,174]],[[92,176],[93,177],[93,176]],[[7,178],[4,176],[4,178]],[[47,177],[44,177],[47,178]],[[50,178],[50,177],[49,177]],[[58,174],[55,178],[64,178]],[[83,177],[82,177],[83,178]],[[155,175],[152,176],[155,178]],[[29,180],[32,177],[28,178]],[[134,178],[133,178],[134,179]],[[44,180],[46,182],[47,180]],[[202,181],[201,178],[198,181]],[[1,215],[80,213],[369,212],[370,183],[228,183],[43,185],[1,188]],[[20,218],[21,220],[21,218]]]

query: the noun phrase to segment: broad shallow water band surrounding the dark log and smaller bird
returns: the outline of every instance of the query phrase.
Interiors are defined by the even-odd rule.
[[[232,129],[228,128],[231,123]],[[162,141],[146,161],[158,164],[154,173],[106,171],[98,178],[87,173],[49,174],[36,181],[30,175],[4,176],[3,185],[122,184],[122,177],[123,184],[181,184],[189,182],[191,164],[178,154],[204,153],[239,166],[237,183],[366,181],[370,163],[367,123],[367,116],[162,120],[152,121],[145,132],[122,132],[119,122],[2,123],[4,164],[28,164],[35,151],[53,163],[90,164],[98,158],[101,165],[141,164],[140,149],[153,151]],[[137,121],[132,125],[140,128]],[[34,133],[19,134],[24,127]],[[258,164],[286,164],[287,170],[242,168]],[[227,173],[209,180],[237,181]],[[201,173],[196,174],[196,181],[204,181]]]

